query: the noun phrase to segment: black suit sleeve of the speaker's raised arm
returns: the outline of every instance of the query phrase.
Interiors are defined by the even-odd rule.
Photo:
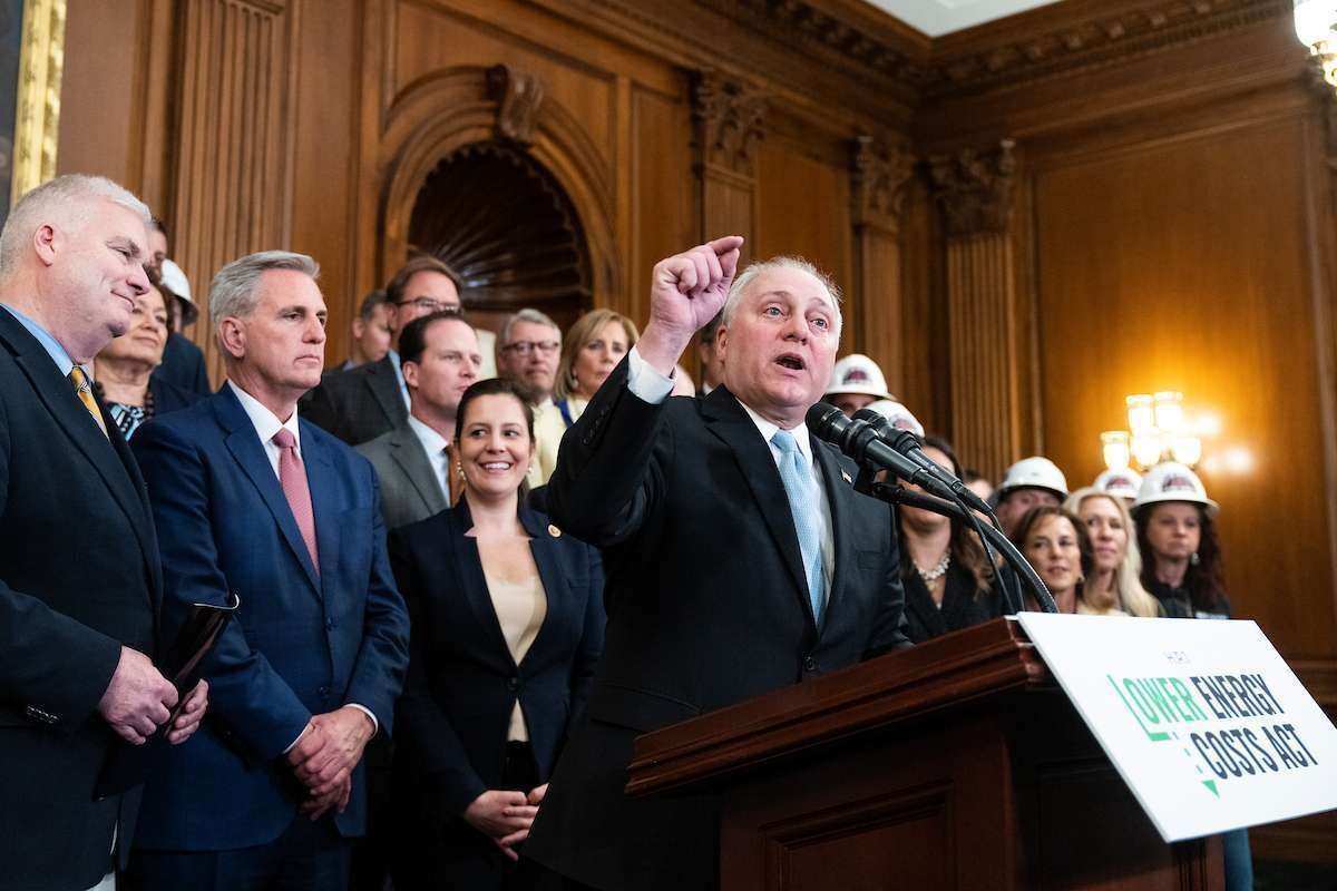
[[[596,548],[635,534],[663,492],[673,430],[663,423],[668,399],[650,405],[627,387],[622,362],[584,414],[562,437],[548,480],[548,506],[566,532]]]

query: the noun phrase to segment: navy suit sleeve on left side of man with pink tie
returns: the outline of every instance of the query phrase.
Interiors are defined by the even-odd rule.
[[[132,441],[148,484],[163,562],[163,629],[171,640],[190,604],[225,604],[227,578],[218,565],[209,481],[199,450],[164,423],[146,423]],[[234,522],[246,522],[235,517]],[[269,660],[251,648],[241,622],[227,624],[205,668],[210,715],[227,725],[247,755],[278,757],[312,715]]]

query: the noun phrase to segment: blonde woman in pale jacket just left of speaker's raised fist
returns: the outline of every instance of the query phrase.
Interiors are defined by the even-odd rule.
[[[636,326],[612,310],[592,310],[571,326],[562,341],[562,359],[552,387],[552,405],[544,406],[533,422],[537,439],[529,485],[541,486],[558,466],[562,435],[584,413],[618,362],[636,343]]]

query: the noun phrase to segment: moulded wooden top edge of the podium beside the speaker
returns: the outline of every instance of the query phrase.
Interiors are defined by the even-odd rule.
[[[1017,621],[997,618],[646,733],[627,793],[709,784],[1047,676]]]

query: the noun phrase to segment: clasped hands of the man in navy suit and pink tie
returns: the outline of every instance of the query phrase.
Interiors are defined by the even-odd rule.
[[[287,763],[310,793],[302,814],[318,820],[330,808],[344,812],[353,789],[353,768],[374,732],[368,713],[352,705],[312,716],[287,752]]]

